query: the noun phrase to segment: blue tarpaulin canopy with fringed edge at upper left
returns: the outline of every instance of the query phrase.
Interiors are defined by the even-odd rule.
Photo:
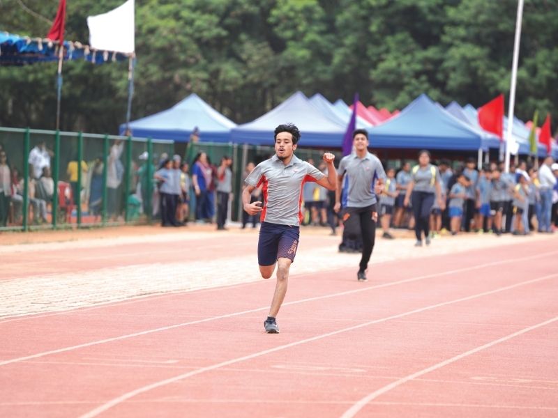
[[[84,59],[102,64],[111,61],[128,60],[130,54],[91,49],[80,42],[65,40],[64,61]],[[50,39],[29,38],[0,32],[0,65],[27,65],[40,62],[58,61],[59,42]]]

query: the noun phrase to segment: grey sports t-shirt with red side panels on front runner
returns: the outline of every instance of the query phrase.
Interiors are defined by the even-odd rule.
[[[307,181],[322,180],[325,174],[292,156],[285,165],[277,155],[257,164],[248,175],[247,185],[262,186],[264,205],[262,222],[299,226],[302,221],[302,187]]]

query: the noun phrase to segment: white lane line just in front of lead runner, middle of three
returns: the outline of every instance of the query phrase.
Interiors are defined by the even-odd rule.
[[[283,346],[277,346],[277,347],[274,347],[274,348],[269,348],[268,350],[262,350],[262,351],[259,351],[257,353],[252,353],[252,354],[245,355],[245,356],[242,356],[242,357],[237,357],[236,359],[230,359],[230,360],[227,360],[225,362],[212,364],[211,366],[201,367],[197,370],[189,371],[188,373],[183,373],[179,376],[174,376],[173,378],[160,380],[158,382],[151,383],[150,385],[145,385],[143,387],[138,387],[137,389],[134,389],[133,391],[127,392],[126,394],[122,394],[121,396],[118,396],[118,397],[116,397],[116,398],[114,398],[114,399],[112,399],[112,400],[110,400],[106,403],[103,403],[102,405],[99,405],[97,408],[95,408],[95,409],[93,409],[89,412],[86,412],[84,415],[81,415],[80,418],[96,417],[96,416],[102,414],[103,412],[105,412],[107,410],[110,410],[110,408],[113,408],[114,406],[118,405],[119,403],[123,403],[124,401],[127,401],[130,398],[133,398],[134,396],[137,396],[137,395],[145,393],[145,392],[149,392],[149,391],[151,391],[153,389],[157,389],[159,387],[169,385],[170,383],[178,382],[179,380],[183,380],[183,379],[186,379],[186,378],[190,378],[192,376],[199,375],[201,373],[205,373],[206,371],[213,371],[213,370],[216,370],[216,369],[221,369],[223,367],[230,366],[231,364],[245,362],[246,360],[255,359],[256,357],[261,357],[263,355],[276,353],[277,351],[280,351],[280,350],[285,350],[286,348],[300,346],[301,344],[304,344],[304,343],[310,343],[312,341],[326,339],[329,336],[334,336],[334,335],[342,334],[342,333],[349,332],[349,331],[359,330],[360,328],[368,327],[370,325],[374,325],[374,324],[377,324],[377,323],[384,323],[384,322],[387,322],[387,321],[392,320],[392,319],[402,318],[404,316],[409,316],[409,315],[412,315],[412,314],[418,314],[418,313],[424,312],[424,311],[430,311],[431,309],[436,309],[436,308],[439,308],[439,307],[445,307],[445,306],[455,304],[455,303],[458,303],[458,302],[465,302],[467,300],[474,300],[474,299],[477,299],[478,297],[494,295],[495,293],[508,291],[510,289],[518,288],[520,286],[525,286],[527,284],[534,284],[538,281],[543,281],[543,280],[546,280],[546,279],[550,279],[552,277],[558,277],[558,273],[549,274],[547,276],[538,277],[536,279],[531,279],[531,280],[527,280],[527,281],[521,281],[520,283],[516,283],[516,284],[510,285],[510,286],[504,286],[504,287],[501,287],[501,288],[496,288],[492,291],[477,293],[476,295],[460,297],[459,299],[450,300],[448,302],[441,302],[441,303],[437,303],[437,304],[432,304],[432,305],[429,305],[428,307],[413,309],[412,311],[407,311],[407,312],[404,312],[402,314],[396,314],[396,315],[392,315],[392,316],[387,316],[385,318],[379,318],[379,319],[376,319],[376,320],[371,320],[371,321],[368,321],[367,323],[362,323],[362,324],[359,324],[359,325],[353,325],[352,327],[346,327],[346,328],[342,328],[341,330],[327,332],[326,334],[320,334],[320,335],[317,335],[317,336],[312,336],[310,338],[302,339],[302,340],[299,340],[299,341],[294,341],[292,343],[288,343],[288,344],[285,344]],[[558,317],[555,318],[554,320],[558,320]],[[546,324],[546,323],[549,323],[549,322],[546,321],[544,324]]]

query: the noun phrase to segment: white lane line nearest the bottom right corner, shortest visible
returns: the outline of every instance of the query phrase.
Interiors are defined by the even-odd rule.
[[[552,274],[552,275],[555,276],[556,274]],[[490,348],[492,346],[496,346],[499,343],[503,343],[505,341],[513,339],[516,336],[520,336],[522,334],[525,334],[526,332],[536,330],[537,328],[544,327],[545,325],[549,325],[551,323],[555,323],[557,320],[558,320],[558,316],[555,316],[554,318],[551,318],[549,320],[545,320],[545,321],[543,321],[541,323],[538,323],[536,325],[531,325],[530,327],[527,327],[527,328],[523,328],[522,330],[519,330],[517,332],[513,332],[512,334],[508,334],[506,336],[503,336],[502,338],[496,339],[494,341],[490,341],[490,343],[483,344],[483,346],[478,346],[476,348],[473,348],[472,350],[465,351],[465,353],[455,355],[454,357],[451,357],[450,359],[446,359],[443,362],[433,364],[432,366],[427,367],[426,369],[422,369],[420,371],[417,371],[415,373],[410,374],[409,376],[405,376],[404,378],[400,378],[398,380],[395,380],[395,382],[391,382],[389,385],[386,385],[384,387],[381,387],[380,389],[375,390],[371,394],[368,394],[367,396],[362,398],[360,401],[356,402],[354,405],[352,405],[351,408],[349,408],[347,411],[345,411],[345,413],[343,415],[341,415],[341,417],[342,418],[352,418],[352,417],[354,417],[357,413],[359,413],[359,411],[362,408],[365,407],[365,405],[367,403],[369,403],[370,401],[373,401],[378,396],[380,396],[382,394],[385,394],[386,392],[389,392],[391,389],[395,389],[395,387],[398,387],[400,385],[404,385],[405,383],[409,382],[409,380],[413,380],[413,379],[419,378],[421,376],[424,376],[426,373],[430,373],[431,371],[441,369],[442,367],[447,366],[448,364],[455,363],[460,359],[463,359],[465,357],[469,357],[469,355],[473,355],[475,353],[478,353],[479,351],[486,350],[487,348]]]

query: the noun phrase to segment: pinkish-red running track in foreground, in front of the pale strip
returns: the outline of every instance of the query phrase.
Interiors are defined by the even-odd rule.
[[[555,243],[0,320],[0,416],[557,417]]]

